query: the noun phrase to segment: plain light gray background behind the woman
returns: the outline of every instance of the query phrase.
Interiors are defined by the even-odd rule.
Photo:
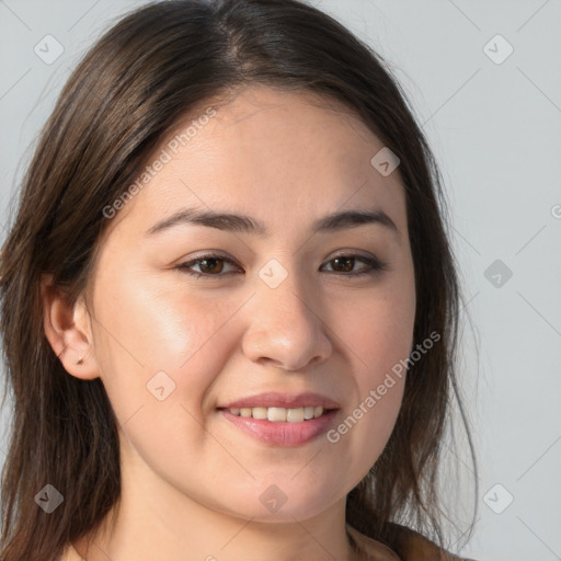
[[[113,19],[142,3],[0,0],[0,241],[31,142],[70,69]],[[388,59],[445,180],[465,293],[462,391],[479,459],[478,522],[462,554],[559,560],[561,1],[311,3]],[[54,61],[44,60],[57,48],[46,35],[64,48]],[[0,462],[8,421],[4,411]],[[465,439],[450,454],[469,474]],[[470,492],[456,505],[465,520]]]

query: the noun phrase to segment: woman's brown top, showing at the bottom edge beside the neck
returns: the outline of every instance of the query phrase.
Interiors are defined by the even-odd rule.
[[[435,543],[421,536],[416,531],[403,526],[399,527],[399,550],[402,557],[388,546],[368,538],[358,530],[346,525],[346,530],[356,550],[362,553],[360,561],[474,561],[453,556],[438,548]],[[442,556],[442,557],[440,557]],[[69,543],[60,558],[60,561],[85,561]]]

